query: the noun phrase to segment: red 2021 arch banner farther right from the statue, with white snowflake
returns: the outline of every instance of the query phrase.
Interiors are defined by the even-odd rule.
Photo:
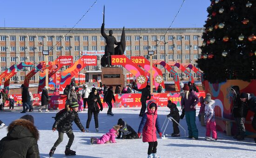
[[[131,57],[131,60],[133,63],[138,64],[143,69],[148,71],[148,73],[150,73],[150,62],[145,57],[142,57],[142,56]],[[163,88],[165,88],[162,71],[159,70],[155,65],[152,66],[152,75],[153,75],[153,79],[154,79],[153,82],[155,83],[154,84],[155,89],[157,89],[160,84],[162,85]]]

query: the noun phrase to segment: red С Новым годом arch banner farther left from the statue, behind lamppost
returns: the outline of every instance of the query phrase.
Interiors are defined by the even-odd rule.
[[[54,62],[48,62],[47,69],[49,70],[49,80],[51,76],[55,74],[58,70],[60,70],[63,66],[71,65],[73,63],[73,57],[72,56],[60,56]],[[39,86],[38,86],[38,93],[42,91],[42,88],[45,87],[45,74],[44,68],[42,68],[42,71],[39,76]],[[51,82],[51,81],[49,81]]]

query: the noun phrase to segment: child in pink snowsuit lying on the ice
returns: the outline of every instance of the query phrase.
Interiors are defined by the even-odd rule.
[[[104,143],[116,143],[115,141],[115,137],[118,135],[118,130],[120,129],[119,125],[115,125],[113,126],[113,128],[111,128],[109,130],[108,133],[104,134],[101,136],[100,139],[97,139],[95,137],[91,137],[90,142],[92,144],[104,144]]]

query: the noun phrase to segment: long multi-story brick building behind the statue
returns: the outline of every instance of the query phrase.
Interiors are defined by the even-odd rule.
[[[109,29],[105,29],[108,32]],[[111,29],[117,41],[121,39],[122,29]],[[155,60],[166,62],[192,63],[201,54],[203,28],[174,28],[166,33],[166,28],[125,29],[126,56],[144,56],[148,58],[148,50],[153,50]],[[0,71],[3,72],[13,64],[34,62],[36,65],[44,61],[42,50],[49,50],[49,61],[59,56],[73,56],[74,61],[80,57],[80,51],[104,51],[105,41],[100,29],[64,29],[64,28],[0,28]],[[67,69],[68,66],[61,70]],[[172,75],[158,65],[166,74],[167,80]],[[20,82],[33,68],[17,73]],[[177,70],[177,69],[175,69]],[[180,70],[179,76],[186,79]],[[81,73],[86,73],[86,80],[101,78],[100,57],[98,66],[87,66]],[[126,73],[126,71],[124,71]],[[11,78],[11,82],[16,80]],[[197,77],[196,74],[194,74]],[[39,74],[31,78],[31,83],[38,82]]]

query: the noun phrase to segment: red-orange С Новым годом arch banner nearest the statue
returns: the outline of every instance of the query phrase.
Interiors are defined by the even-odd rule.
[[[71,78],[78,74],[86,66],[97,66],[97,56],[82,56],[68,69],[63,71],[61,75],[60,92],[65,89],[66,85],[70,84]]]

